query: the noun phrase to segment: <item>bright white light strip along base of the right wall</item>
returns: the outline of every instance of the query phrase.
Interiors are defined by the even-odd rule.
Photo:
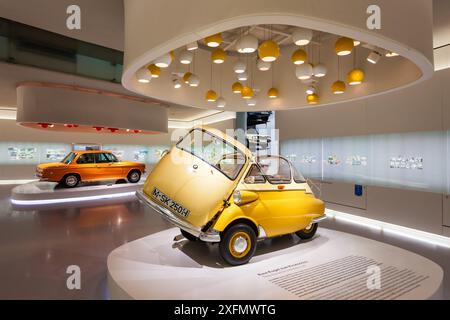
[[[326,215],[330,219],[334,219],[337,221],[348,222],[351,224],[355,224],[358,226],[367,227],[370,229],[374,229],[380,232],[391,233],[395,235],[399,235],[405,238],[426,242],[429,244],[433,244],[436,246],[441,246],[445,248],[450,248],[450,238],[440,236],[437,234],[412,229],[408,227],[402,227],[399,225],[373,220],[369,218],[364,218],[360,216],[351,215],[348,213],[343,213],[335,210],[326,209]]]

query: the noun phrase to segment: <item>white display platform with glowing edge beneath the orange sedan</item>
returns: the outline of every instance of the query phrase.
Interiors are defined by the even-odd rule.
[[[11,192],[11,202],[18,206],[37,206],[130,197],[142,188],[144,180],[141,181],[137,184],[90,184],[73,189],[57,187],[56,182],[36,181],[15,187]]]

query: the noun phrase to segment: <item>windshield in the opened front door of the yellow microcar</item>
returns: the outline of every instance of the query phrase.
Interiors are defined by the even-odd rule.
[[[231,180],[237,178],[246,161],[238,148],[201,129],[192,130],[177,148],[200,158]]]

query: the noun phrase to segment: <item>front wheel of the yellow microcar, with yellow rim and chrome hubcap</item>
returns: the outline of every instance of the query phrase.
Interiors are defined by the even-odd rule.
[[[237,224],[223,233],[219,245],[220,255],[232,266],[250,261],[256,251],[256,234],[247,224]]]

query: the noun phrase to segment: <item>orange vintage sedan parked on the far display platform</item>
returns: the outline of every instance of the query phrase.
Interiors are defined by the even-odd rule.
[[[138,183],[144,172],[145,164],[119,161],[110,151],[73,151],[59,163],[38,165],[36,176],[42,181],[75,188],[81,181],[127,179]]]

